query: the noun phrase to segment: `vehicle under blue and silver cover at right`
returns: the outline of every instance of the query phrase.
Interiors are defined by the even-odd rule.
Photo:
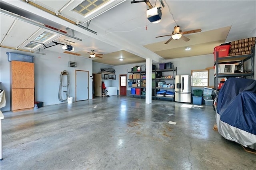
[[[227,79],[218,94],[215,118],[224,138],[256,149],[256,80]]]

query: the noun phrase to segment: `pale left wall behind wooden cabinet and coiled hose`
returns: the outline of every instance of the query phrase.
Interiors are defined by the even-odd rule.
[[[28,53],[7,48],[0,48],[0,81],[1,89],[6,95],[6,107],[1,111],[10,111],[10,62],[6,52],[21,53],[34,56],[34,81],[36,101],[44,102],[44,105],[54,105],[63,103],[58,100],[58,90],[60,85],[60,73],[64,70],[70,75],[70,97],[75,98],[75,70],[89,71],[92,75],[92,60],[84,57],[56,53],[47,50],[40,50],[46,55]],[[68,61],[77,62],[77,67],[68,67]],[[92,79],[89,77],[89,99],[92,99]]]

